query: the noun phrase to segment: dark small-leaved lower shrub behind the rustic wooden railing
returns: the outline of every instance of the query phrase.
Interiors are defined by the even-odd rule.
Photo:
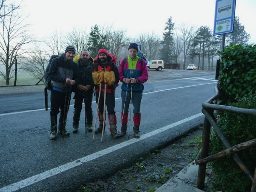
[[[240,98],[231,106],[239,108],[256,109],[256,96]],[[256,116],[223,112],[218,119],[218,127],[231,146],[256,138]],[[210,137],[209,153],[215,154],[226,149],[218,135],[213,131]],[[254,174],[256,166],[256,150],[250,148],[239,151],[239,158],[245,166]],[[213,173],[216,178],[216,187],[225,192],[250,191],[252,182],[247,175],[235,163],[232,156],[212,161]]]

